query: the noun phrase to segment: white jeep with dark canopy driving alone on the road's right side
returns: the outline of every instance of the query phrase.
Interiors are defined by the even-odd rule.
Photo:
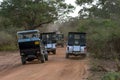
[[[86,56],[86,33],[82,32],[69,32],[66,50],[66,58],[70,55],[83,55]]]

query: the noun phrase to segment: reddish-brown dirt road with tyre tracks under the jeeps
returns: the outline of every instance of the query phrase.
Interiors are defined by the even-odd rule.
[[[0,80],[86,80],[88,63],[87,58],[65,59],[65,48],[58,48],[43,64],[22,65],[19,52],[0,53]]]

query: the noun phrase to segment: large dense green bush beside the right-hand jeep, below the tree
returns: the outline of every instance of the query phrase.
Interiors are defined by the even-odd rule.
[[[87,33],[87,46],[95,58],[116,58],[120,52],[119,23],[105,19],[89,19],[79,22],[78,31]]]

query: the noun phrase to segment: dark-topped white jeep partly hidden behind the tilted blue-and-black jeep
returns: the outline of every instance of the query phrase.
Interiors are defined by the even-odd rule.
[[[47,52],[52,52],[56,54],[56,33],[55,32],[47,32],[41,33],[41,39]]]

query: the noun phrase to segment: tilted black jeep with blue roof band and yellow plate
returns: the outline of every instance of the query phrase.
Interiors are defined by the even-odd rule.
[[[39,39],[38,30],[19,31],[17,32],[17,38],[22,64],[34,59],[38,59],[42,63],[48,60],[48,54]]]

